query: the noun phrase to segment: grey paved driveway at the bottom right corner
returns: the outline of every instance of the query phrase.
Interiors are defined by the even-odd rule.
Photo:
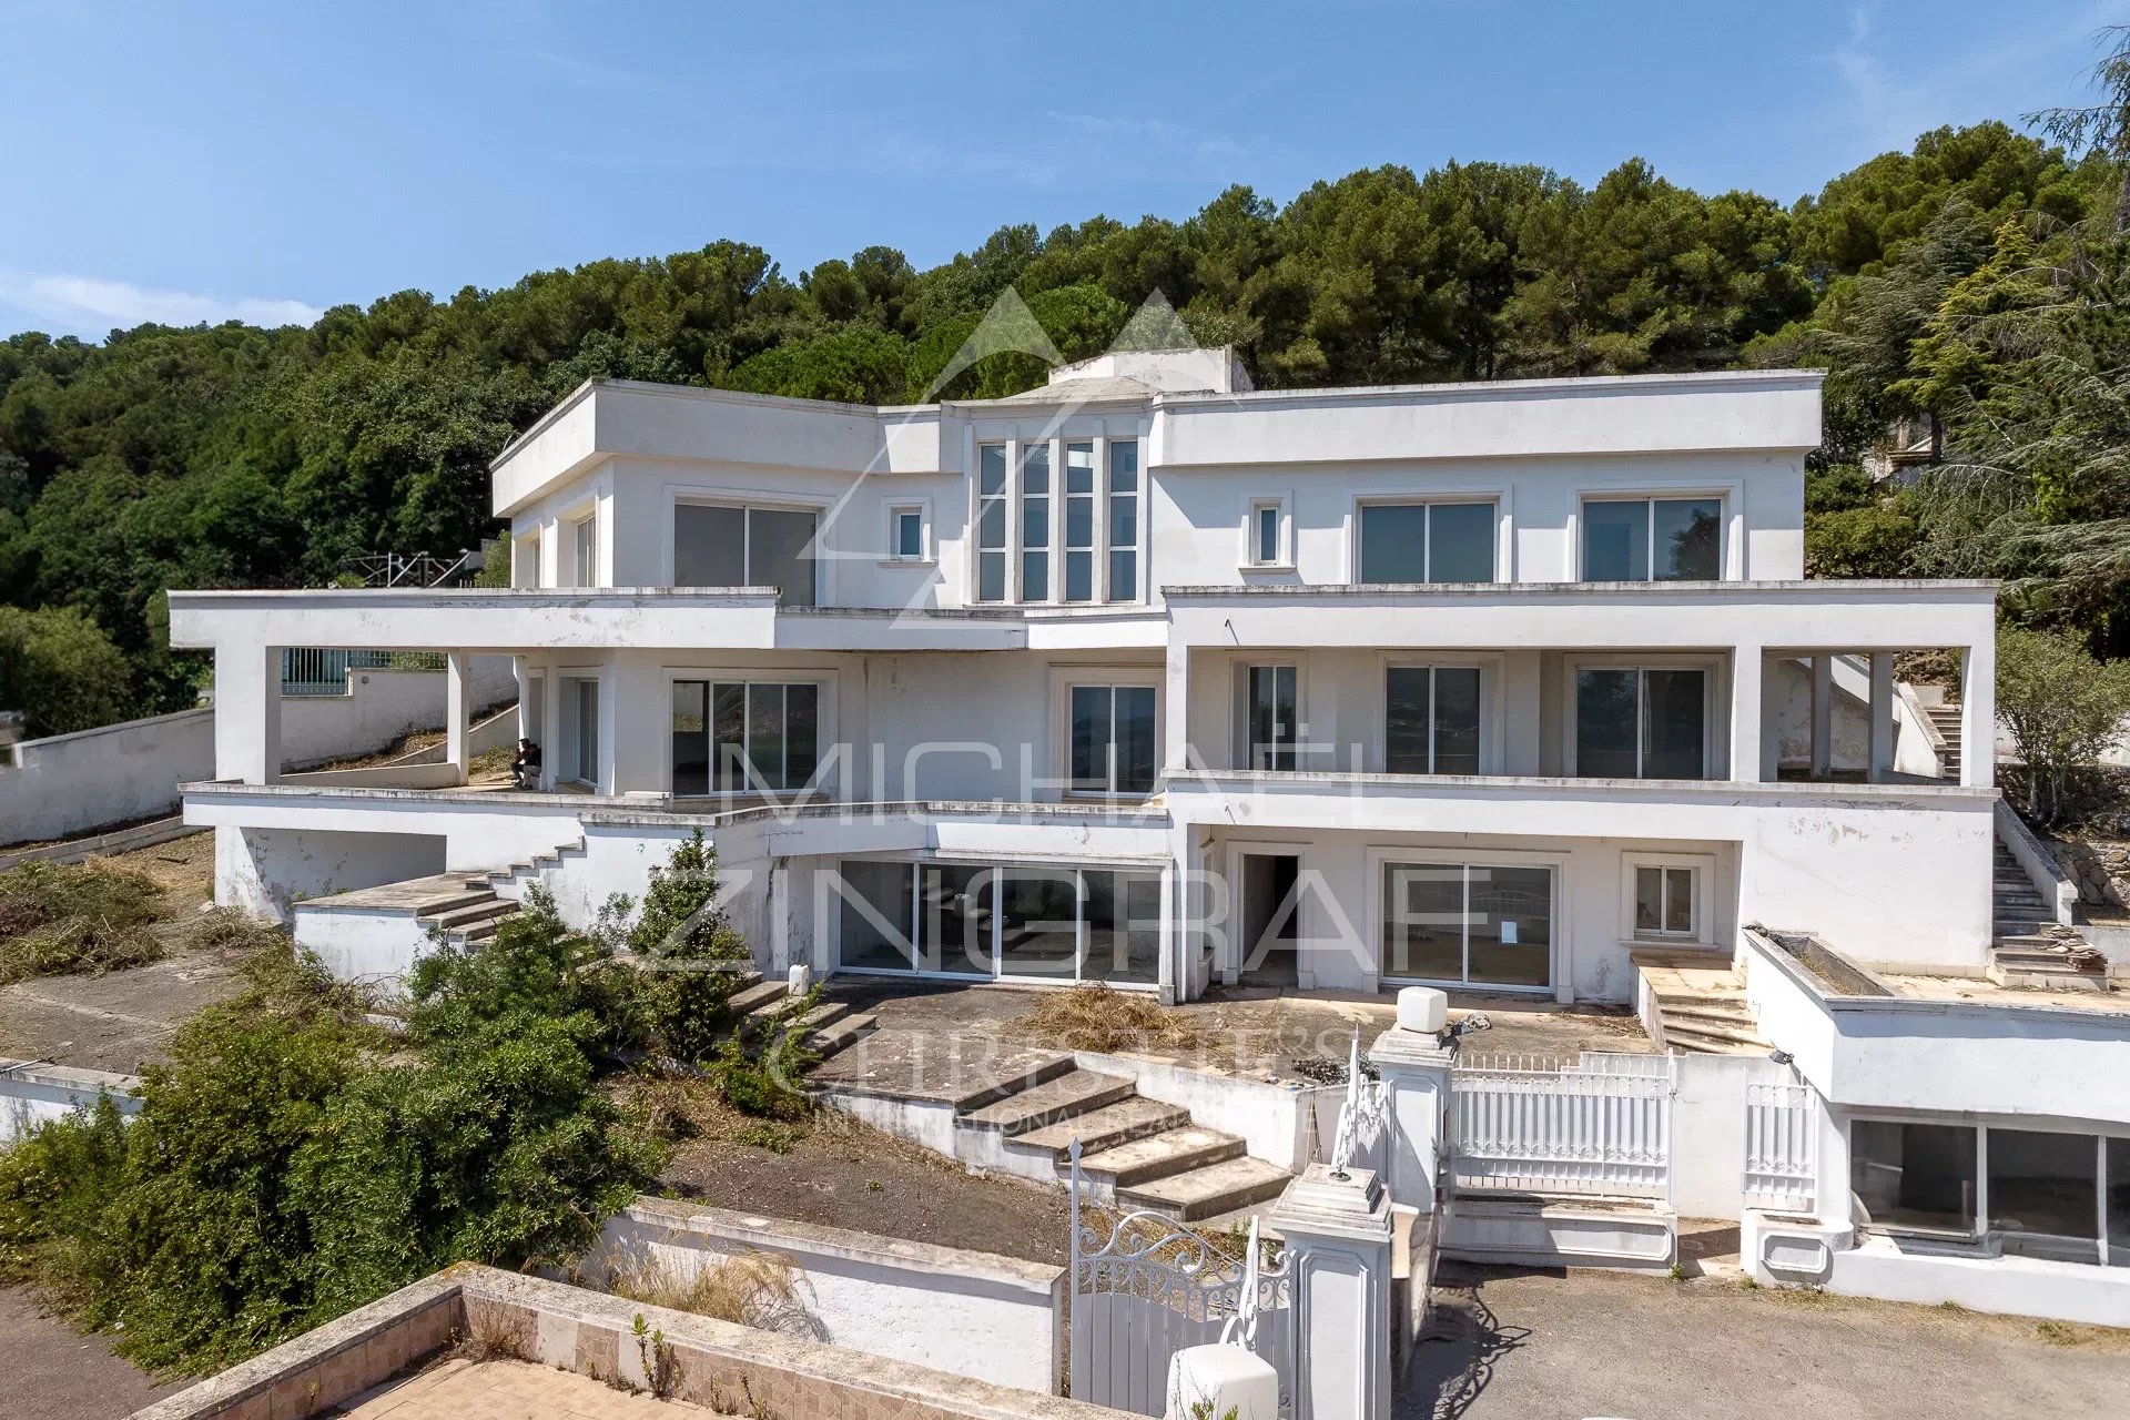
[[[2130,1416],[2130,1333],[1700,1277],[1444,1267],[1397,1420]]]

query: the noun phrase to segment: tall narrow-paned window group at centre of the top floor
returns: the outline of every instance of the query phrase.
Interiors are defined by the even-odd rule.
[[[978,445],[976,600],[1140,600],[1140,445],[1112,439],[1105,475],[1097,462],[1093,439],[1029,441],[1018,460]]]

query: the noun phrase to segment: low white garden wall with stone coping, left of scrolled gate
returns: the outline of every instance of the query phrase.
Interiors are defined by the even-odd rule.
[[[1046,1394],[1065,1380],[1063,1267],[637,1199],[607,1222],[581,1269],[607,1277],[652,1260],[688,1279],[750,1252],[805,1273],[816,1341]]]

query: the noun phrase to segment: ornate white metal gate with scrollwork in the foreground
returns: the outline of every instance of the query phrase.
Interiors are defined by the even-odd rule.
[[[1071,1145],[1071,1392],[1140,1416],[1167,1407],[1169,1356],[1223,1339],[1242,1311],[1242,1258],[1161,1213],[1097,1209]],[[1257,1269],[1252,1350],[1280,1373],[1280,1414],[1295,1386],[1293,1284]]]

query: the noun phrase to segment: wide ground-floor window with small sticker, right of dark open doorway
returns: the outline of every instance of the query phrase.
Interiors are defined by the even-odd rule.
[[[1553,869],[1382,864],[1382,975],[1455,986],[1551,986]]]

